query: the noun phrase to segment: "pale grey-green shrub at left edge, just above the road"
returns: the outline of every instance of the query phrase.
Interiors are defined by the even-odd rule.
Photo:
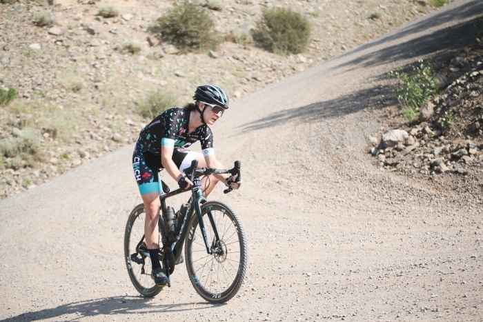
[[[0,140],[0,156],[12,158],[6,165],[8,168],[22,168],[33,165],[40,159],[40,140],[32,130],[25,128],[20,137]]]

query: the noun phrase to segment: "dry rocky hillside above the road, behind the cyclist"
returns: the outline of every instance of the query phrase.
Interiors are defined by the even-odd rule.
[[[151,92],[171,92],[182,104],[196,85],[214,83],[237,99],[435,9],[422,0],[210,0],[201,4],[226,41],[212,52],[180,54],[148,32],[170,1],[3,2],[0,88],[19,94],[1,107],[0,139],[22,152],[0,156],[1,198],[134,142],[149,121],[139,104]],[[105,4],[119,14],[101,17]],[[306,52],[278,56],[240,41],[273,6],[309,17]],[[136,54],[125,50],[133,44]]]

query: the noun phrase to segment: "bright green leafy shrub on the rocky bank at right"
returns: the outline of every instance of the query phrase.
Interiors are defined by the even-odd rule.
[[[419,66],[413,67],[413,74],[411,75],[401,69],[389,73],[390,77],[395,77],[401,81],[396,88],[396,98],[409,121],[413,121],[410,109],[415,113],[419,112],[420,107],[438,92],[437,80],[433,77],[435,71],[431,68],[429,62],[424,62],[422,59],[417,62]],[[405,110],[409,112],[405,112]]]

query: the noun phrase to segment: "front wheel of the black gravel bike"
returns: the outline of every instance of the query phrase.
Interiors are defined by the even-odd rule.
[[[238,214],[224,202],[204,203],[201,214],[213,254],[206,252],[195,213],[186,234],[186,268],[201,297],[210,303],[224,303],[237,294],[245,278],[248,267],[245,230]],[[217,228],[219,240],[214,228]]]

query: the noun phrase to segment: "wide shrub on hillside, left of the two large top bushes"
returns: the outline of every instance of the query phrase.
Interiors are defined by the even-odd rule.
[[[181,50],[213,50],[221,40],[214,30],[215,22],[205,8],[195,3],[175,4],[159,17],[149,30],[161,41]]]

